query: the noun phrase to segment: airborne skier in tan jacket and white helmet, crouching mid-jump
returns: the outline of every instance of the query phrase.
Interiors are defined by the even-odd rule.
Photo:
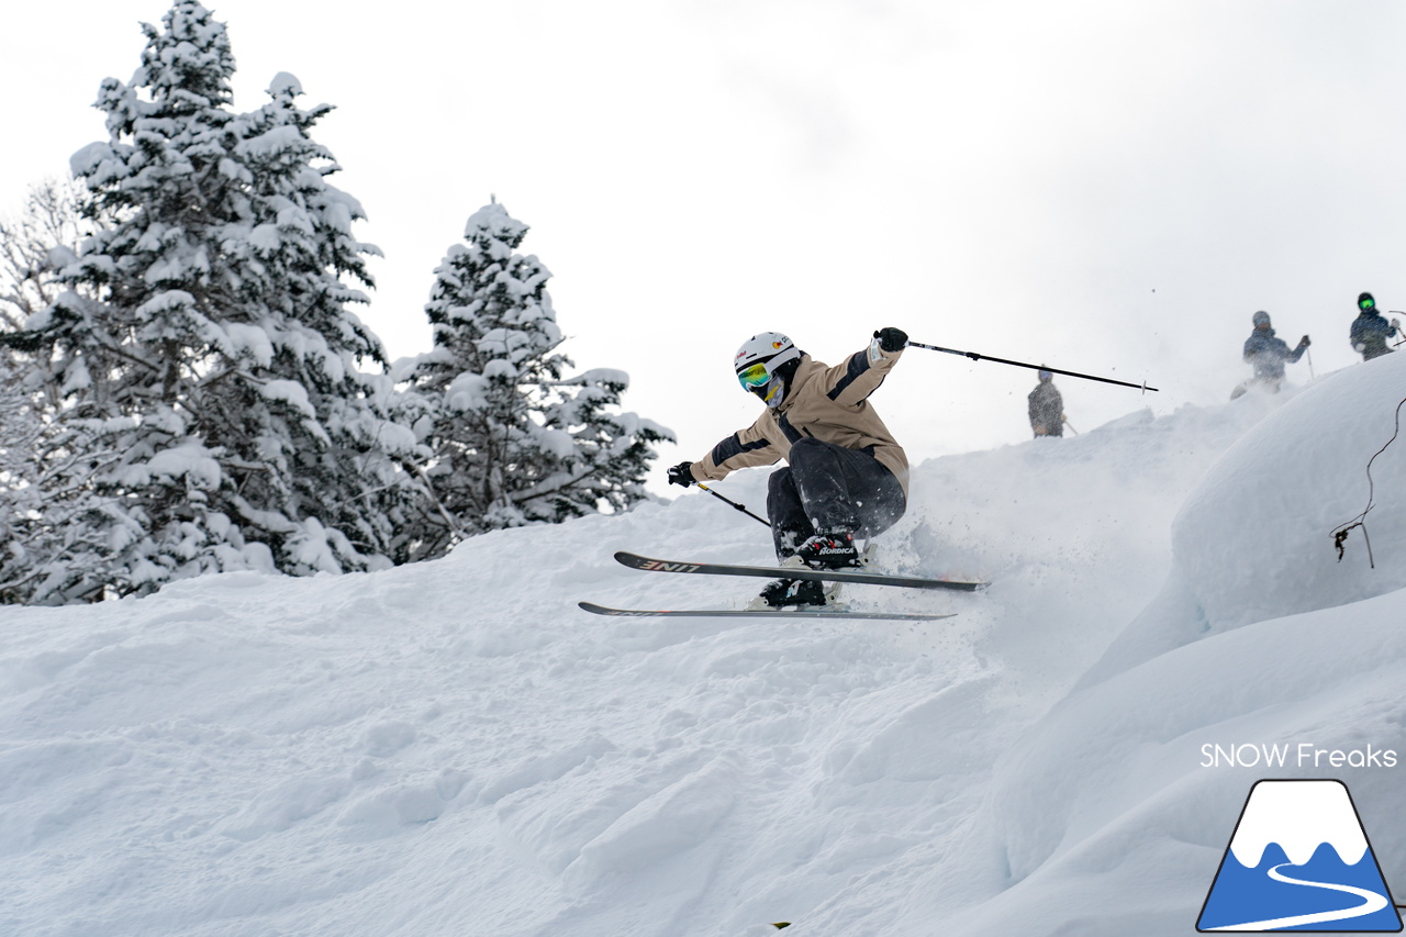
[[[879,329],[869,348],[831,367],[779,332],[754,335],[733,367],[766,409],[707,456],[669,468],[669,483],[686,488],[785,459],[789,467],[772,473],[766,491],[778,559],[818,570],[859,566],[855,537],[883,533],[907,509],[908,457],[868,401],[907,343],[901,329]],[[759,602],[824,605],[824,585],[780,578]]]

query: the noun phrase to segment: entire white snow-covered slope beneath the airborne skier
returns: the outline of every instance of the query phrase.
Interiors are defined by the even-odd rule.
[[[368,575],[0,611],[0,933],[1187,934],[1260,768],[1406,754],[1406,355],[1277,398],[928,461],[886,622],[616,549],[765,561],[703,492]],[[759,508],[765,473],[720,485]],[[1406,888],[1406,796],[1351,788]]]

